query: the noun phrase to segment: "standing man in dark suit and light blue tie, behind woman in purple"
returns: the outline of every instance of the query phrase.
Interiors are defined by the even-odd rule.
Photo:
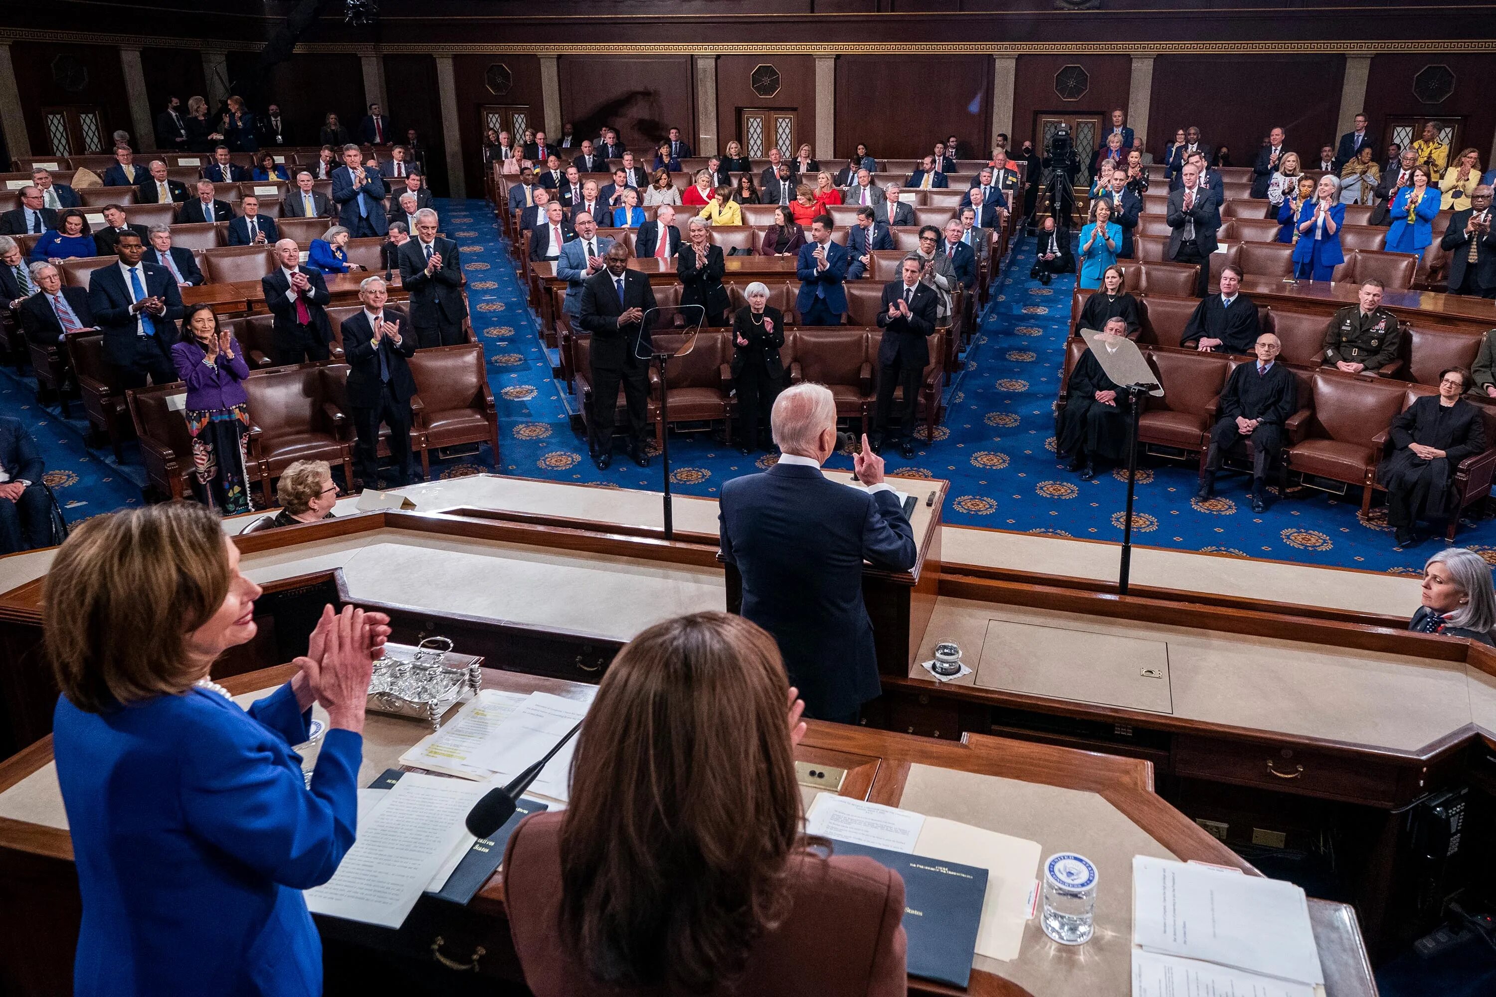
[[[177,380],[172,344],[183,317],[183,296],[165,268],[142,263],[145,244],[135,232],[114,242],[118,266],[88,277],[88,309],[103,332],[103,354],[120,374],[123,387],[145,387]]]

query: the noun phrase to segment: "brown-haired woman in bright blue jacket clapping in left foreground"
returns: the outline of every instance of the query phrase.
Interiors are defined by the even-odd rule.
[[[322,994],[301,891],[353,845],[387,617],[328,607],[301,671],[245,712],[208,680],[254,637],[260,589],[238,562],[217,516],[172,502],[84,523],[52,564],[45,641],[82,894],[78,997]],[[332,729],[308,786],[292,746],[314,701]]]

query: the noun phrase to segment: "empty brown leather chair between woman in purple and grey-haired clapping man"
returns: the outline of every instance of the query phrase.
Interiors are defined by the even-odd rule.
[[[251,371],[244,381],[250,408],[248,474],[260,481],[266,505],[272,504],[272,480],[296,460],[341,463],[343,480],[352,489],[353,427],[332,404],[334,386],[325,371],[323,365],[302,363]]]

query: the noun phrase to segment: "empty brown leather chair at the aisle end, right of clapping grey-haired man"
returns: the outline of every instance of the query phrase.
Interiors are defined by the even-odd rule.
[[[494,454],[494,466],[500,466],[498,410],[488,386],[483,347],[462,342],[416,350],[408,363],[422,402],[414,426],[423,442],[422,477],[431,477],[431,447],[486,442]]]

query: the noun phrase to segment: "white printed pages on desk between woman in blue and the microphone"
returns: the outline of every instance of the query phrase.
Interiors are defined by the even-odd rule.
[[[307,907],[398,928],[464,837],[471,842],[462,821],[489,789],[485,783],[407,773],[383,791],[383,800],[371,801],[367,810],[359,807],[358,840],[332,879],[305,891]]]

